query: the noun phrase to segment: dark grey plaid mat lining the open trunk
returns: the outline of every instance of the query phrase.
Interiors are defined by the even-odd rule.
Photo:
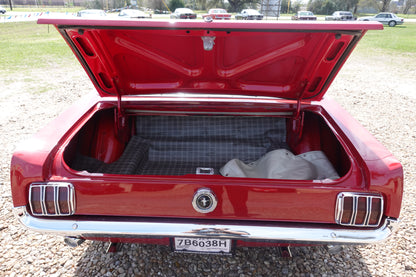
[[[110,164],[77,154],[79,171],[130,175],[215,174],[231,159],[256,161],[275,149],[288,149],[286,121],[277,117],[137,116],[136,135]]]

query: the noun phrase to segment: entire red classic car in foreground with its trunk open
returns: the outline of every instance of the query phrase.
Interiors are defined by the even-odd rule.
[[[77,239],[172,243],[176,250],[186,250],[180,239],[296,245],[371,243],[390,235],[401,208],[401,164],[324,97],[356,43],[381,24],[39,23],[56,26],[97,93],[14,153],[13,205],[28,228]],[[322,151],[339,176],[237,178],[204,166],[206,156],[240,149],[268,120],[283,126],[287,149]],[[216,125],[227,122],[231,142],[219,139],[224,131]],[[241,128],[230,131],[233,124]],[[139,151],[143,143],[131,142],[146,132],[156,139],[146,137],[150,150]],[[201,136],[196,144],[184,139],[194,132]],[[158,147],[165,148],[157,152],[164,156],[155,173],[148,162]],[[179,173],[177,164],[189,165],[182,156],[195,157],[189,149],[201,161],[190,162],[196,172]],[[135,158],[125,158],[131,153],[146,156],[148,171],[138,173]]]

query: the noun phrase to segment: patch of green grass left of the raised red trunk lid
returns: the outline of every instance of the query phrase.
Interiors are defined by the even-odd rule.
[[[30,70],[70,60],[74,60],[73,54],[53,26],[0,24],[0,70]]]

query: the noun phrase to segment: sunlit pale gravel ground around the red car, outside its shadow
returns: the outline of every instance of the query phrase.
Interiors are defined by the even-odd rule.
[[[0,276],[415,276],[414,64],[414,55],[353,54],[328,92],[402,162],[405,195],[400,229],[385,242],[344,246],[337,254],[324,247],[299,247],[293,249],[291,260],[279,258],[273,248],[206,256],[172,253],[165,246],[125,244],[120,252],[105,254],[106,243],[85,242],[73,249],[61,237],[25,230],[11,212],[12,152],[19,141],[92,86],[75,63],[2,74],[6,77],[0,79]]]

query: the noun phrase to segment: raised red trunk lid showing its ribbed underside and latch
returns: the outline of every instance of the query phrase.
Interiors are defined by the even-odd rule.
[[[209,93],[320,100],[375,22],[246,23],[41,18],[101,96]]]

